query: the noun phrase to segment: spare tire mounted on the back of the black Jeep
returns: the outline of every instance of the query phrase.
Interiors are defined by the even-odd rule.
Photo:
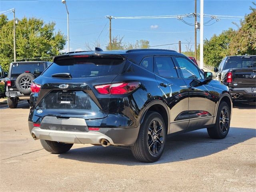
[[[16,79],[16,87],[23,94],[30,94],[30,85],[36,77],[31,73],[22,73]]]

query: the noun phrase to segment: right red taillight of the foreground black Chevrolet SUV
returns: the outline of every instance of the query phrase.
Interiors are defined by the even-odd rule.
[[[100,94],[112,94],[112,95],[122,95],[127,94],[135,90],[140,86],[140,82],[123,82],[123,83],[113,83],[105,85],[96,85],[95,89]]]

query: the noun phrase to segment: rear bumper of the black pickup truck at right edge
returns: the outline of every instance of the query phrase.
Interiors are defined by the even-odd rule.
[[[252,92],[251,87],[246,88],[229,88],[230,94],[232,98],[248,98],[248,99],[255,99],[256,92]],[[239,97],[237,97],[239,95]]]

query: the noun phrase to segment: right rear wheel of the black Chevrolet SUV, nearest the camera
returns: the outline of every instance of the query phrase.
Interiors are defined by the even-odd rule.
[[[166,142],[166,127],[162,116],[149,111],[141,126],[138,138],[131,147],[133,156],[141,162],[155,162],[163,153]]]

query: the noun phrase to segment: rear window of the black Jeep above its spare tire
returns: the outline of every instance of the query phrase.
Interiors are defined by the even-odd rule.
[[[22,73],[32,73],[39,76],[44,71],[44,64],[13,64],[11,77],[18,77]]]

